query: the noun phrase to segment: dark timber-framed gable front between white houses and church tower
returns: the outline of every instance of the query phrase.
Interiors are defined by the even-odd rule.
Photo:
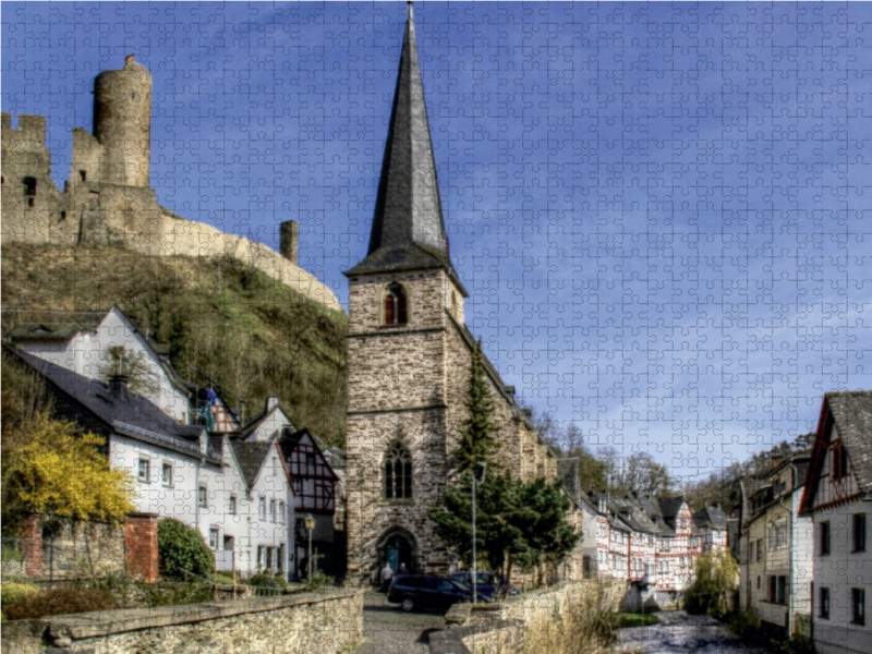
[[[294,434],[286,429],[279,447],[291,475],[296,512],[332,514],[336,511],[336,483],[339,476],[308,429]]]

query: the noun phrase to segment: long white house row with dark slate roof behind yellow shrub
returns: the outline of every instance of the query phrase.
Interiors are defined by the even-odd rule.
[[[110,467],[135,480],[138,511],[197,529],[219,569],[291,569],[293,492],[275,438],[210,436],[129,392],[122,376],[106,384],[11,347],[5,352],[46,379],[57,415],[106,438]]]

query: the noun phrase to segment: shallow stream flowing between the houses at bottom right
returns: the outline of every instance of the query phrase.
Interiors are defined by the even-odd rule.
[[[683,610],[655,614],[659,625],[618,629],[613,651],[621,654],[772,654],[732,638],[725,625]]]

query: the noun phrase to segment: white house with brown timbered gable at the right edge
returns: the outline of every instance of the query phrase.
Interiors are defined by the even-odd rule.
[[[814,524],[812,639],[872,652],[872,391],[824,396],[800,513]]]

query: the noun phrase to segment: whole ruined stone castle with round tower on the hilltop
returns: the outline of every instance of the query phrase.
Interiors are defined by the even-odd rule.
[[[3,243],[121,245],[149,255],[221,256],[249,263],[316,302],[342,311],[336,295],[296,265],[299,227],[279,225],[279,253],[244,237],[185,220],[149,186],[152,75],[130,56],[94,80],[94,133],[75,128],[70,179],[51,179],[46,119],[2,114]]]

